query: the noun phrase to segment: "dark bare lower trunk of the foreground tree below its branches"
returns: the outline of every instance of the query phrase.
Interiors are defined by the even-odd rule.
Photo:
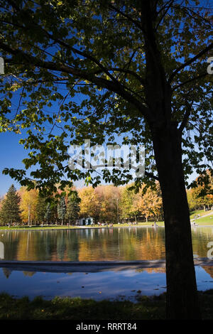
[[[182,171],[181,136],[175,123],[160,125],[151,131],[165,217],[167,317],[198,319],[200,308]]]

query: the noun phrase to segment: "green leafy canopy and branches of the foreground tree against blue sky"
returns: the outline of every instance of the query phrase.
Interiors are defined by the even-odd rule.
[[[156,175],[150,124],[151,114],[143,28],[144,1],[0,1],[1,131],[22,133],[29,149],[23,162],[36,167],[4,173],[44,192],[55,191],[84,178],[122,184],[129,171],[102,176],[94,171],[70,171],[71,144],[145,144],[146,175]],[[150,1],[151,24],[170,87],[170,122],[182,131],[185,175],[202,173],[212,160],[212,77],[207,57],[212,49],[212,12],[209,1]],[[158,55],[153,55],[158,59]],[[155,67],[153,66],[153,77]],[[154,80],[153,80],[154,81]],[[16,107],[14,107],[14,105]],[[206,158],[205,162],[204,158]],[[64,178],[66,176],[66,179]],[[68,180],[68,181],[66,181]]]

